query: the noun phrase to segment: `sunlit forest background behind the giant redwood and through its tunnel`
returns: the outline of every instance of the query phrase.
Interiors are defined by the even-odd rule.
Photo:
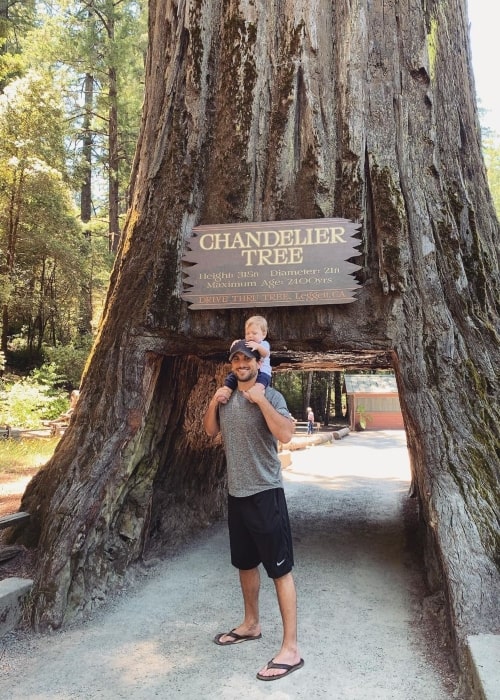
[[[0,0],[0,425],[37,427],[79,386],[127,210],[147,5]],[[500,213],[500,137],[479,112]],[[343,417],[340,373],[277,384],[297,418]]]

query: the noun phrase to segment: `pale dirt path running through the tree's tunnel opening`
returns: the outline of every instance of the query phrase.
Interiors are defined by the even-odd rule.
[[[305,659],[289,678],[255,673],[280,621],[263,576],[258,642],[218,647],[240,622],[224,523],[139,576],[84,625],[0,641],[0,696],[203,700],[446,700],[455,678],[431,621],[410,526],[403,432],[357,433],[294,452],[286,472]]]

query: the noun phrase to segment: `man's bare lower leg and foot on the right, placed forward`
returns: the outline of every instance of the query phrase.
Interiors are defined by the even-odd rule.
[[[300,653],[297,644],[297,593],[292,573],[274,579],[274,585],[283,621],[283,643],[273,661],[294,666],[300,661]],[[262,676],[280,676],[283,673],[284,669],[268,669],[267,666],[260,671]]]

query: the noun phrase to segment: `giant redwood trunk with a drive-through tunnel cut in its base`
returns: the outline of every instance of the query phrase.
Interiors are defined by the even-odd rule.
[[[150,0],[142,128],[74,423],[22,504],[33,623],[92,607],[224,503],[201,415],[252,309],[190,310],[198,224],[361,223],[357,300],[268,307],[276,369],[392,366],[432,593],[499,618],[498,222],[465,0]],[[292,352],[293,349],[293,352]]]

